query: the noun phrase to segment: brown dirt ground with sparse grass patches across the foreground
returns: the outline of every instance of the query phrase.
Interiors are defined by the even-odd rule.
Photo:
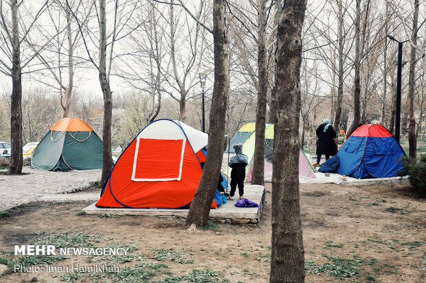
[[[88,202],[32,203],[0,219],[0,267],[109,264],[120,272],[13,272],[0,282],[268,282],[271,184],[258,225],[78,215]],[[406,186],[301,184],[306,282],[426,282],[426,200]],[[14,245],[130,247],[128,256],[13,256]],[[52,260],[54,258],[54,260]],[[58,261],[56,261],[58,260]],[[56,262],[55,262],[56,261]],[[12,265],[11,265],[12,264]],[[1,270],[1,269],[0,269]]]

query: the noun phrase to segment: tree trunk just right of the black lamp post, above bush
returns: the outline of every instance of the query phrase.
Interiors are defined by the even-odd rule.
[[[416,71],[416,45],[417,44],[417,25],[418,25],[418,6],[419,1],[414,0],[414,18],[412,28],[412,46],[410,52],[410,82],[408,84],[408,116],[409,116],[409,127],[408,127],[408,145],[410,156],[416,158],[416,120],[414,119],[414,88],[416,87],[416,78],[414,77]],[[425,54],[423,54],[425,56]]]

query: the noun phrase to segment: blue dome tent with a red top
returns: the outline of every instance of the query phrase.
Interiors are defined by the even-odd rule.
[[[337,152],[337,173],[356,178],[394,177],[402,168],[405,156],[401,145],[379,124],[359,127]]]

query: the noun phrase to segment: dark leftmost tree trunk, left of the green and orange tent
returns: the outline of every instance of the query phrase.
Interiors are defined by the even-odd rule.
[[[10,103],[10,142],[12,152],[8,172],[22,172],[22,80],[21,80],[21,46],[18,24],[18,4],[10,1],[12,9],[12,97]]]

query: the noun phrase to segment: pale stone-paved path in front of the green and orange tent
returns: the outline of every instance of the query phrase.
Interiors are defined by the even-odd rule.
[[[43,195],[87,188],[100,181],[102,170],[52,172],[24,167],[23,173],[27,174],[0,175],[0,211],[39,200]]]

